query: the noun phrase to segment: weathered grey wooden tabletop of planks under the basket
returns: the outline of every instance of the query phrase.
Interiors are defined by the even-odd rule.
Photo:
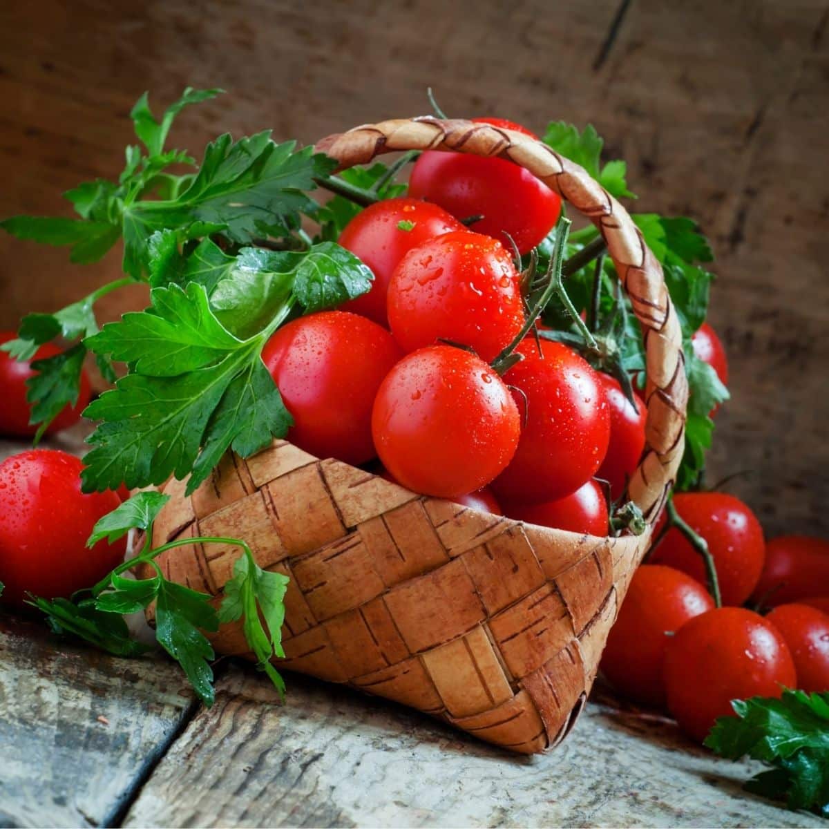
[[[160,652],[110,657],[0,610],[0,827],[825,826],[744,793],[758,764],[607,692],[528,759],[308,677],[279,705],[249,665],[216,676],[208,710]]]

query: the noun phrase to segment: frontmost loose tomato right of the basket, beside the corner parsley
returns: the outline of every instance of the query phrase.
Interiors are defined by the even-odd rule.
[[[717,717],[734,714],[732,700],[797,685],[777,628],[744,608],[716,608],[682,625],[667,644],[663,676],[668,710],[700,741]]]

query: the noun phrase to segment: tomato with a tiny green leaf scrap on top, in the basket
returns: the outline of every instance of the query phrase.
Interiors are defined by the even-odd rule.
[[[401,226],[401,222],[411,226]],[[386,199],[366,207],[343,228],[338,241],[371,268],[374,284],[368,293],[345,303],[342,310],[388,327],[385,295],[391,272],[412,248],[450,230],[463,230],[463,225],[428,201]]]

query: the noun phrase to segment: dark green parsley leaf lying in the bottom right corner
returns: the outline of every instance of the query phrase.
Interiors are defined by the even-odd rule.
[[[705,745],[729,759],[748,755],[773,766],[746,783],[750,792],[829,817],[829,693],[787,690],[781,699],[731,705],[736,716],[720,717]]]

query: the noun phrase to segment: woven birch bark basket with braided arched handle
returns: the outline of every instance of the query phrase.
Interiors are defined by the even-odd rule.
[[[332,135],[317,149],[341,168],[400,150],[506,158],[594,222],[642,323],[647,444],[628,498],[647,531],[598,538],[531,526],[276,441],[251,458],[226,455],[190,497],[185,482],[168,482],[172,500],[153,542],[242,538],[261,567],[290,578],[279,670],[411,705],[515,752],[544,751],[584,706],[681,460],[688,390],[662,268],[613,196],[529,136],[465,120],[397,119]],[[218,604],[239,555],[194,544],[158,563]],[[239,623],[211,641],[216,652],[253,658]]]

